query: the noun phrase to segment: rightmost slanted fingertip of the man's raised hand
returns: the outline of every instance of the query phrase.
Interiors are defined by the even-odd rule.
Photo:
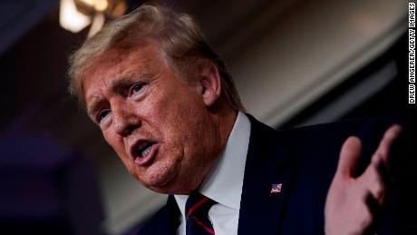
[[[391,146],[393,145],[395,139],[398,138],[401,129],[401,126],[398,124],[394,124],[388,128],[388,130],[383,134],[383,139],[379,143],[378,149],[376,149],[376,152],[373,154],[373,158],[381,156],[386,167],[388,167]]]

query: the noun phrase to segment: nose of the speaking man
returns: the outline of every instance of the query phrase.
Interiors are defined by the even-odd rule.
[[[135,114],[134,109],[121,103],[116,103],[113,107],[112,124],[116,133],[124,137],[141,126],[141,119]]]

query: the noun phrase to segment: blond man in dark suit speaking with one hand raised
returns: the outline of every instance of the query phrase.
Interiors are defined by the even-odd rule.
[[[385,132],[359,175],[361,140],[379,140],[388,122],[268,128],[244,113],[224,62],[188,15],[142,5],[88,39],[70,77],[131,175],[175,195],[139,234],[373,232],[400,127]],[[361,140],[344,142],[353,134]]]

